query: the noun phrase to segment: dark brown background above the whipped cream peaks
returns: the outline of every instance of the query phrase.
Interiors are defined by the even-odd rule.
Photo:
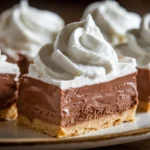
[[[0,12],[19,2],[19,0],[0,0]],[[31,6],[56,12],[66,23],[80,20],[84,9],[92,2],[94,0],[29,0]],[[127,10],[140,15],[150,12],[150,0],[118,0],[118,2]]]

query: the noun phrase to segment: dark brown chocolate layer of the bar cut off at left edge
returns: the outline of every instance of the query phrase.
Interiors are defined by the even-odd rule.
[[[12,74],[0,74],[0,109],[16,102],[18,91],[14,78]]]

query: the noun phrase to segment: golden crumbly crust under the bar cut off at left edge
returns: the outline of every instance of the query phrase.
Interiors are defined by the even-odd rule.
[[[0,120],[14,120],[18,116],[16,103],[5,109],[0,109]]]

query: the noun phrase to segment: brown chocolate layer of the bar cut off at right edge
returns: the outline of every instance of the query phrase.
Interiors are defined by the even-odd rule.
[[[150,102],[150,70],[138,68],[137,89],[139,100]]]

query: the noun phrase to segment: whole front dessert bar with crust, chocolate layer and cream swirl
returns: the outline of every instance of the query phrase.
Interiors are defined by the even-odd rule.
[[[118,60],[91,15],[68,24],[22,77],[18,123],[68,137],[133,121],[136,72],[135,59]]]

